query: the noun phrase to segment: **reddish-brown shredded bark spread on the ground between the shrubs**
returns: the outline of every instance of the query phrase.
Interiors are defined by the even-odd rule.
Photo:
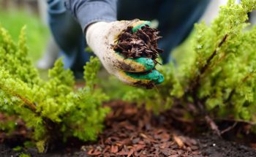
[[[173,130],[170,120],[135,104],[118,102],[110,107],[105,131],[95,145],[86,147],[89,156],[201,156],[197,140]]]

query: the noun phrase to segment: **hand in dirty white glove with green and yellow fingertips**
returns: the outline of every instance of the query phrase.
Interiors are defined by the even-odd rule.
[[[87,28],[86,41],[110,74],[129,85],[152,88],[164,80],[162,74],[154,69],[154,61],[150,58],[124,58],[111,46],[116,45],[118,34],[128,26],[137,31],[146,24],[150,26],[149,21],[142,20],[93,23]]]

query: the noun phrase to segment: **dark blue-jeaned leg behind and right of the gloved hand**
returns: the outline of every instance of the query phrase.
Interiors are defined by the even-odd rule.
[[[159,47],[164,63],[170,60],[170,51],[180,44],[192,30],[194,23],[200,19],[210,0],[119,0],[118,20],[159,21],[162,39]]]

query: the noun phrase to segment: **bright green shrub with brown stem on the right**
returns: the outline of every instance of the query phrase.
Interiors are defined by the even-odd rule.
[[[195,34],[182,48],[187,51],[182,61],[162,67],[165,83],[157,90],[130,91],[125,97],[146,101],[156,112],[174,102],[191,103],[213,117],[256,122],[256,27],[249,29],[247,23],[252,9],[255,0],[228,1],[211,26],[195,25]]]

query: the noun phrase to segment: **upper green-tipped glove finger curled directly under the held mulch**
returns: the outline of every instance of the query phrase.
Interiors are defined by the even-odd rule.
[[[148,72],[154,68],[155,64],[151,58],[124,58],[118,53],[113,53],[113,66],[124,72]]]

